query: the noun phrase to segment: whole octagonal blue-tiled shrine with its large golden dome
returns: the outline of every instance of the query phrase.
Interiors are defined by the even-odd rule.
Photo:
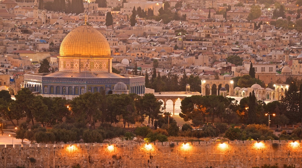
[[[63,39],[59,71],[24,75],[24,87],[44,97],[72,99],[86,92],[112,94],[114,86],[129,93],[145,93],[145,77],[112,73],[111,50],[107,39],[95,28],[83,25]]]

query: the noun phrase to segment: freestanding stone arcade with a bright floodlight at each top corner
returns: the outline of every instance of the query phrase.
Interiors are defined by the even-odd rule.
[[[234,95],[233,89],[234,89],[234,83],[233,80],[202,80],[201,81],[201,95],[206,95],[206,86],[209,85],[210,86],[210,91],[212,91],[212,86],[216,85],[217,86],[217,92],[218,93],[218,88],[219,86],[221,87],[226,87],[226,85],[228,85],[227,87],[230,88],[229,89],[229,93],[230,96]],[[212,92],[210,93],[210,95],[212,95]]]

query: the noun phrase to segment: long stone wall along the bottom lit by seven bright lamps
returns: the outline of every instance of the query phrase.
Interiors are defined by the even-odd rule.
[[[299,140],[0,145],[0,167],[301,167],[301,149]]]

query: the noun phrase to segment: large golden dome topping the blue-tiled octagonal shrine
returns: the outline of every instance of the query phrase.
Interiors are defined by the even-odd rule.
[[[63,39],[60,58],[110,58],[107,39],[95,28],[83,25],[72,30]]]

